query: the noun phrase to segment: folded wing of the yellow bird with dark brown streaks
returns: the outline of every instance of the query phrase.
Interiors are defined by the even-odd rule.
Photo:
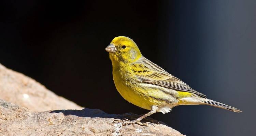
[[[154,64],[144,57],[133,63],[131,70],[136,74],[136,78],[138,78],[138,80],[143,83],[157,85],[176,91],[190,92],[200,97],[206,98],[205,95],[192,89],[186,83],[172,76],[160,66]]]

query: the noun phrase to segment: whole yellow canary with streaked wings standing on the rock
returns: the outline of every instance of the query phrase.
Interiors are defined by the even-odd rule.
[[[118,123],[139,124],[143,118],[156,112],[168,113],[174,106],[206,104],[241,112],[240,109],[207,99],[180,79],[142,56],[138,46],[125,36],[115,37],[105,48],[113,66],[113,80],[117,91],[128,102],[150,112],[136,120],[118,120]]]

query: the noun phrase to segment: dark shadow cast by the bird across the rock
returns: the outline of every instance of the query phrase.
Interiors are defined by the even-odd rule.
[[[90,118],[114,118],[114,119],[129,119],[129,120],[135,120],[141,115],[133,114],[133,113],[125,113],[125,114],[107,114],[100,109],[89,109],[89,108],[84,108],[82,110],[77,110],[77,109],[60,109],[60,110],[54,110],[50,111],[50,113],[63,113],[63,115],[68,116],[68,115],[75,115],[78,117],[90,117]],[[167,125],[161,121],[157,121],[153,118],[146,117],[145,119],[142,120],[142,122],[151,122],[151,123],[156,123],[156,124],[163,124]]]

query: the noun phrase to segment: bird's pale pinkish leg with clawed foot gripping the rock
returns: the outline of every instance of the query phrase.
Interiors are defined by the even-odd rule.
[[[142,126],[148,126],[148,123],[147,123],[147,122],[146,122],[146,123],[142,123],[142,122],[140,122],[140,121],[141,121],[142,119],[144,119],[145,117],[150,116],[150,115],[156,113],[157,110],[158,110],[158,107],[157,107],[157,106],[152,106],[150,112],[148,112],[148,113],[142,115],[141,117],[137,118],[136,120],[131,120],[131,121],[130,121],[130,120],[128,120],[128,119],[123,119],[123,120],[114,120],[114,121],[117,121],[116,123],[123,123],[122,126],[128,125],[128,124],[138,124],[138,125],[142,125]],[[114,122],[114,121],[113,121],[113,122]]]

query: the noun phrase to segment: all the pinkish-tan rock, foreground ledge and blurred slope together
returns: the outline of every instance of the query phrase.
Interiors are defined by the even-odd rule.
[[[83,108],[0,64],[0,136],[183,136],[162,122],[149,127],[112,123],[134,116]]]

